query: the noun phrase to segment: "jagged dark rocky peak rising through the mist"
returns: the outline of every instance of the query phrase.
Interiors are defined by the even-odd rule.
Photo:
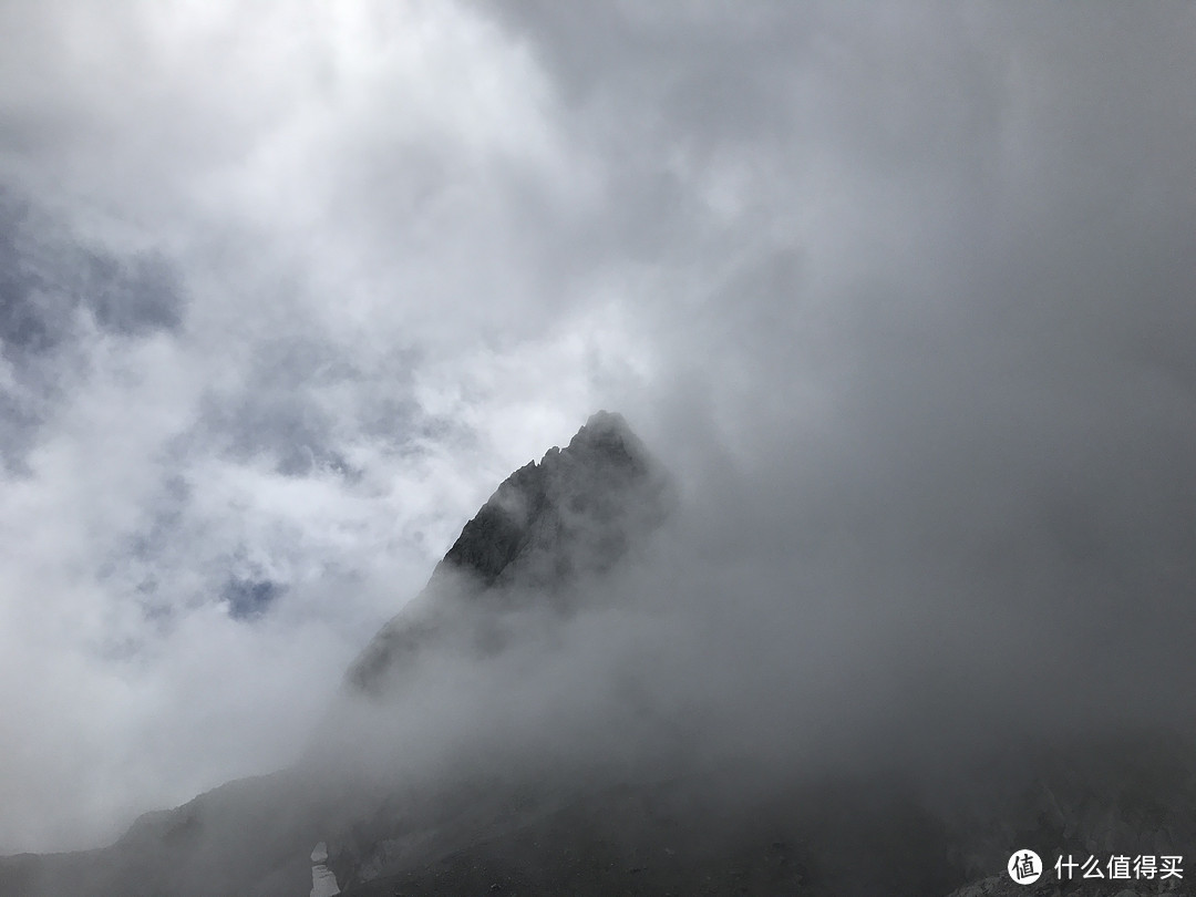
[[[671,484],[620,414],[598,411],[563,447],[504,481],[437,565],[427,587],[349,670],[377,691],[404,659],[460,634],[466,618],[529,602],[574,609],[579,582],[602,576],[667,515]]]

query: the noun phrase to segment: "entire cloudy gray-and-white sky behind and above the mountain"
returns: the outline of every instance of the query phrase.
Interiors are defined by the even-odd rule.
[[[1184,4],[0,1],[0,852],[286,763],[598,408],[728,568],[834,556],[869,633],[935,592],[896,652],[1190,714],[1194,45]]]

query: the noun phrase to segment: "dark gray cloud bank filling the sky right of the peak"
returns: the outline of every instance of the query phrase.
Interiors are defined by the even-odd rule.
[[[710,657],[781,683],[712,687],[775,703],[826,675],[787,659],[812,652],[923,749],[952,721],[1184,716],[1191,18],[501,10],[641,188],[604,220],[672,240],[635,294],[655,390],[623,407],[737,570],[697,562],[744,627]]]

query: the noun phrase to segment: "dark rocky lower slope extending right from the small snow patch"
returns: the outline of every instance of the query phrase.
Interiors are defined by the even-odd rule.
[[[1011,758],[1019,774],[976,770],[927,800],[902,775],[767,787],[753,770],[574,789],[523,804],[478,792],[435,824],[401,824],[391,861],[347,853],[347,897],[373,895],[801,895],[803,897],[1145,897],[1194,893],[1191,744],[1158,733],[1061,745]],[[1012,773],[1012,770],[1009,770]],[[405,853],[404,842],[426,837]],[[1005,864],[1036,850],[1048,872],[1018,885]],[[1055,859],[1183,856],[1184,878],[1060,881]],[[365,862],[362,862],[365,860]],[[367,878],[360,871],[368,868]]]

